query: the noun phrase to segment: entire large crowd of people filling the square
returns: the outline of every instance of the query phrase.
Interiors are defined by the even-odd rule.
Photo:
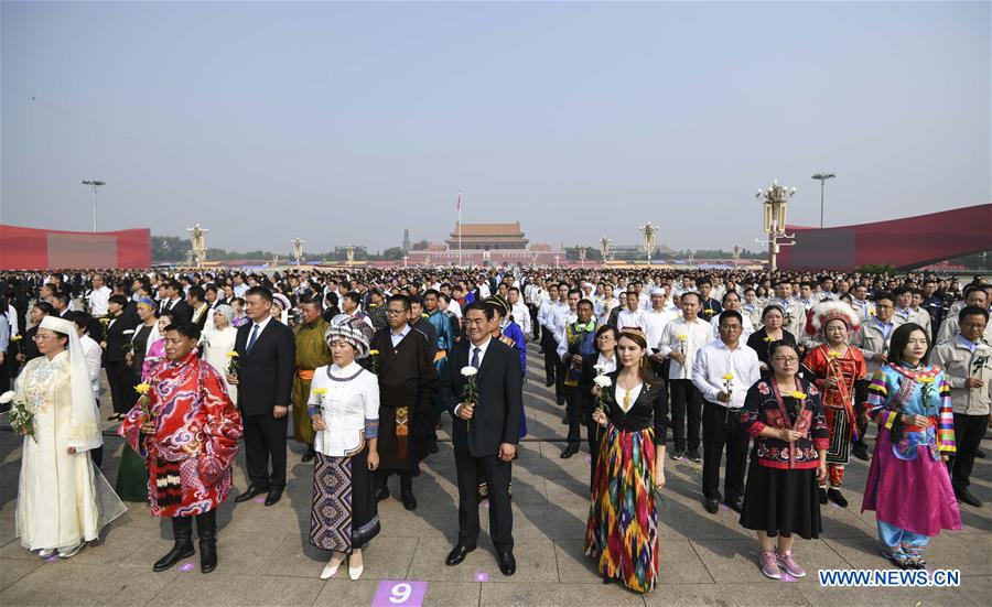
[[[924,567],[928,540],[961,529],[959,505],[982,506],[969,490],[992,404],[981,279],[422,267],[62,270],[0,283],[0,392],[13,381],[4,407],[29,420],[12,423],[24,434],[17,533],[42,557],[73,556],[123,498],[171,519],[174,545],[154,571],[196,552],[195,519],[208,573],[238,452],[248,486],[235,501],[272,506],[291,435],[313,465],[320,576],[347,563],[357,579],[362,549],[389,524],[377,508],[388,476],[416,510],[420,465],[446,427],[459,535],[445,564],[475,550],[488,500],[497,565],[513,575],[528,353],[562,407],[562,458],[585,433],[584,549],[604,583],[657,584],[667,459],[701,463],[700,516],[721,502],[738,512],[772,578],[805,575],[794,540],[819,536],[823,505],[849,507],[851,457],[871,460],[860,508],[876,512],[895,566]],[[126,442],[114,488],[100,473],[101,370]]]

